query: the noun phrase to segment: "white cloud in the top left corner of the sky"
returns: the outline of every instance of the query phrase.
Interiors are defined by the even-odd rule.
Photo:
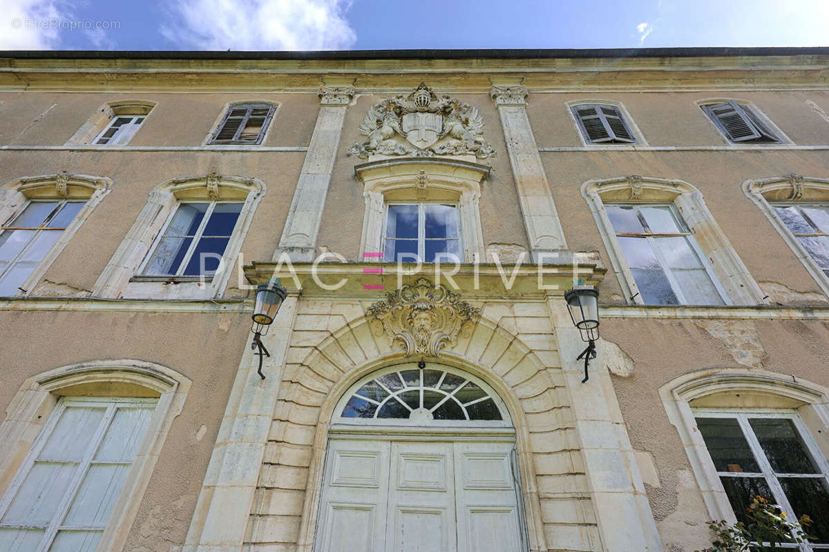
[[[3,0],[0,50],[52,50],[60,45],[56,22],[70,16],[63,0]]]

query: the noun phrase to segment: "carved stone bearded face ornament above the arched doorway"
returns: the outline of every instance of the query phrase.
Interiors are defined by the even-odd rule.
[[[481,311],[444,286],[434,287],[420,278],[413,286],[386,294],[385,300],[369,307],[366,316],[379,320],[392,342],[399,341],[405,355],[440,357],[447,344],[480,316]]]

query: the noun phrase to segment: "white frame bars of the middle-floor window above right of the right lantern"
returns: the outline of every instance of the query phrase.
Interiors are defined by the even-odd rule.
[[[633,236],[637,236],[637,237],[638,236],[645,236],[645,239],[647,240],[647,242],[649,244],[651,244],[651,249],[652,249],[654,255],[657,257],[657,261],[659,262],[660,268],[662,268],[662,271],[665,273],[665,277],[667,278],[668,283],[671,285],[671,291],[673,291],[674,295],[676,295],[676,300],[679,301],[677,303],[677,305],[675,305],[675,306],[679,306],[679,305],[721,306],[721,305],[692,305],[691,303],[688,303],[686,301],[685,294],[682,291],[681,286],[679,286],[679,283],[676,280],[676,276],[673,274],[673,270],[671,269],[670,266],[667,265],[666,259],[662,256],[662,252],[659,250],[658,247],[654,247],[652,245],[652,243],[655,242],[659,237],[672,237],[672,236],[680,237],[681,236],[683,238],[686,238],[686,242],[691,246],[691,249],[693,249],[693,251],[696,253],[696,257],[699,258],[699,260],[702,264],[702,267],[705,269],[705,273],[710,278],[710,281],[714,285],[715,289],[717,290],[717,293],[720,294],[720,299],[723,301],[723,304],[724,305],[732,305],[730,297],[729,297],[728,293],[725,291],[725,287],[722,285],[722,282],[720,281],[719,276],[717,276],[717,274],[715,273],[714,268],[711,266],[711,264],[708,260],[708,257],[705,257],[705,252],[702,251],[702,249],[700,247],[700,244],[698,242],[696,242],[696,238],[694,236],[694,233],[691,231],[691,228],[688,227],[688,224],[686,223],[685,219],[682,218],[681,214],[679,213],[679,210],[676,209],[675,204],[673,204],[672,202],[627,202],[627,203],[625,203],[625,202],[619,202],[619,201],[608,201],[607,203],[605,203],[605,205],[630,205],[630,206],[633,206],[633,208],[636,209],[636,214],[638,215],[638,218],[639,218],[640,222],[642,223],[642,228],[644,228],[646,230],[649,230],[649,228],[647,226],[647,221],[645,220],[645,218],[640,213],[638,207],[640,205],[647,205],[647,206],[653,206],[653,207],[667,207],[668,209],[671,210],[671,215],[673,215],[673,218],[676,221],[676,223],[678,224],[678,226],[680,226],[681,228],[686,229],[685,233],[667,233],[667,234],[666,233],[651,233],[651,232],[644,233],[644,234],[640,234],[640,233],[635,233],[635,234],[618,233],[616,231],[616,229],[613,228],[613,223],[611,222],[610,228],[613,229],[613,235],[616,237],[616,242],[619,244],[619,250],[621,252],[621,257],[623,257],[623,260],[624,260],[625,264],[628,267],[628,271],[631,271],[631,277],[632,278],[633,278],[633,271],[632,271],[633,269],[630,266],[630,262],[628,262],[628,257],[625,257],[624,250],[622,249],[622,244],[620,242],[618,242],[619,236],[623,236],[623,237],[627,237],[627,236],[632,236],[632,237]],[[635,279],[634,279],[634,283],[635,283]],[[638,290],[638,287],[639,286],[637,285],[637,290]],[[641,297],[642,294],[640,293],[638,296]],[[646,305],[650,305],[650,304],[646,304]],[[656,305],[659,305],[659,304],[656,304]],[[671,306],[671,305],[659,305],[659,306]]]

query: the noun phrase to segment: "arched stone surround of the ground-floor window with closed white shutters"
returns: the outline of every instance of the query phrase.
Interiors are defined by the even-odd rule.
[[[61,396],[153,396],[153,410],[98,550],[121,550],[172,420],[181,413],[191,381],[154,362],[99,360],[42,372],[23,382],[0,423],[0,496],[9,488]]]

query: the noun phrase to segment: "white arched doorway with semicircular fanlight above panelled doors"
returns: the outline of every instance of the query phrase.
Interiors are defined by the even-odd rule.
[[[363,377],[334,410],[314,550],[527,550],[515,443],[501,398],[467,372]]]

